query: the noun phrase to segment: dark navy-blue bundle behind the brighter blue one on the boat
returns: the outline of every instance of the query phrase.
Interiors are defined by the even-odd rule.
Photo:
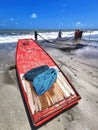
[[[33,68],[31,70],[29,70],[28,72],[26,72],[24,74],[24,78],[28,81],[33,81],[34,78],[39,75],[40,73],[48,70],[49,67],[47,65],[42,65],[42,66],[39,66],[39,67],[36,67],[36,68]]]

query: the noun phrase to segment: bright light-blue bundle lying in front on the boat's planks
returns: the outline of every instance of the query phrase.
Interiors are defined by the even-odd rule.
[[[37,75],[32,82],[37,95],[42,95],[49,90],[56,81],[56,78],[57,71],[54,68],[49,68]]]

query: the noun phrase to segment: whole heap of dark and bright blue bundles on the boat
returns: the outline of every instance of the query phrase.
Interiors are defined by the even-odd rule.
[[[49,68],[47,65],[42,65],[26,72],[24,78],[32,82],[37,95],[42,95],[56,81],[57,71],[54,68]]]

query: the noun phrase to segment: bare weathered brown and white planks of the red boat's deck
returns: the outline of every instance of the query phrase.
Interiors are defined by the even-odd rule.
[[[38,96],[35,92],[34,87],[32,86],[32,83],[25,80],[26,84],[26,92],[29,98],[29,104],[32,106],[33,114],[43,111],[46,108],[49,108],[53,106],[54,104],[70,97],[71,94],[73,94],[73,91],[69,88],[68,84],[60,77],[56,80],[56,82],[53,84],[53,86],[46,91],[43,95]],[[75,94],[75,93],[74,93]]]

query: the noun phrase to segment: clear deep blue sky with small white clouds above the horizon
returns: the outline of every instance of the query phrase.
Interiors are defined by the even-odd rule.
[[[98,0],[1,0],[0,29],[98,29]]]

